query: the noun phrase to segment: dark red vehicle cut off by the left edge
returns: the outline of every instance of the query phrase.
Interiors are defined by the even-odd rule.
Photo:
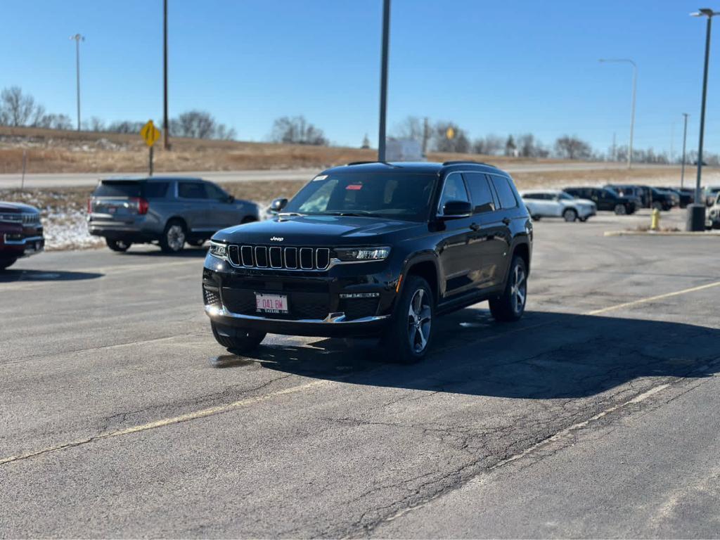
[[[44,248],[40,211],[27,204],[0,201],[0,270]]]

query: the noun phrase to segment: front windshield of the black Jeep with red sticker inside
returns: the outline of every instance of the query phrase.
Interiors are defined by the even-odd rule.
[[[437,176],[417,173],[333,173],[316,176],[284,212],[427,219]]]

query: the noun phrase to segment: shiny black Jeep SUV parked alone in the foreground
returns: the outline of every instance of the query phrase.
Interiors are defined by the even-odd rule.
[[[350,163],[315,176],[276,216],[220,230],[205,258],[218,343],[266,333],[380,336],[418,361],[436,315],[482,300],[523,315],[532,223],[510,176],[482,163]]]

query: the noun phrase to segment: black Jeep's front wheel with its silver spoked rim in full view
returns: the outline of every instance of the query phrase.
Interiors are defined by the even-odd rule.
[[[415,364],[424,359],[433,341],[434,315],[435,297],[428,282],[408,276],[380,341],[387,361]]]

